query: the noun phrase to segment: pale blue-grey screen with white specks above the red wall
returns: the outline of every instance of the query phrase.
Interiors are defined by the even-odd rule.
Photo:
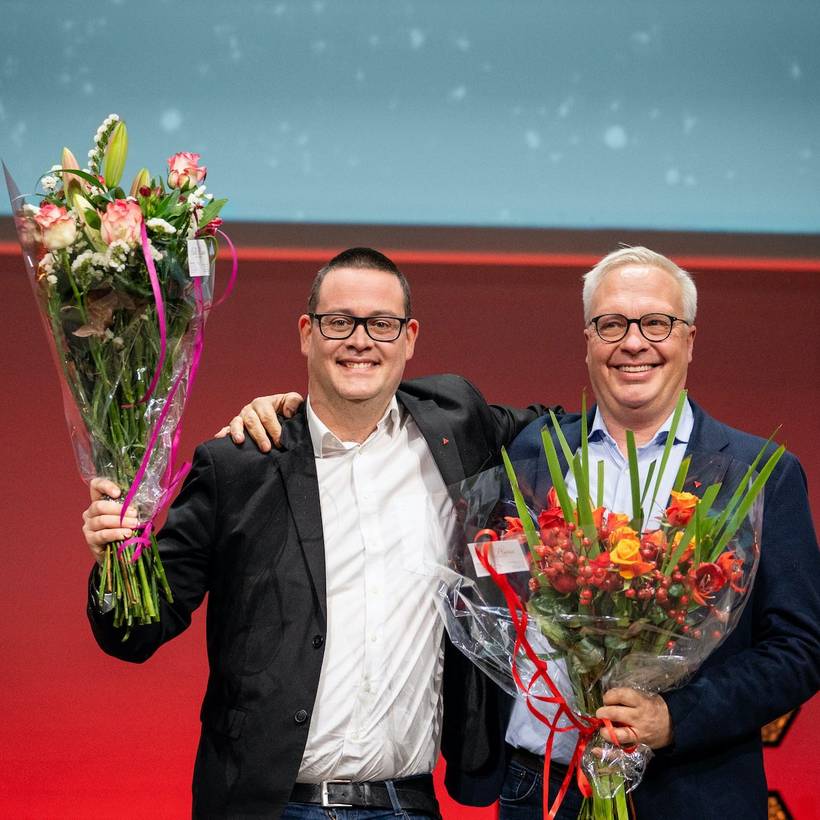
[[[2,0],[0,17],[0,156],[23,190],[116,111],[129,178],[197,151],[234,220],[820,231],[817,0]]]

